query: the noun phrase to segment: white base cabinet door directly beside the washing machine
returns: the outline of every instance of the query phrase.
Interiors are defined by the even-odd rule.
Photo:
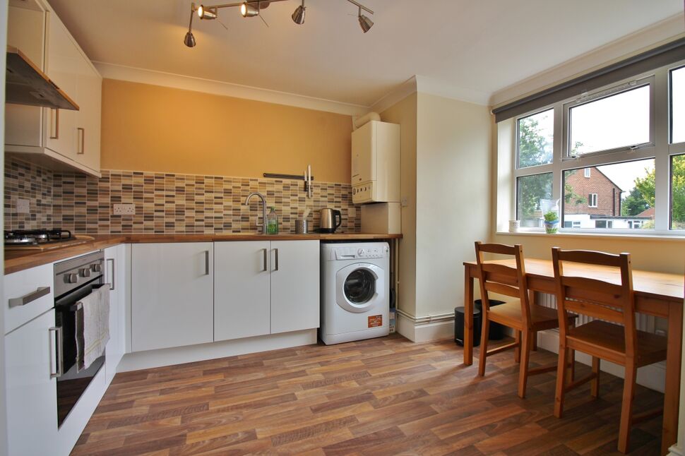
[[[271,241],[271,334],[318,328],[318,241]]]

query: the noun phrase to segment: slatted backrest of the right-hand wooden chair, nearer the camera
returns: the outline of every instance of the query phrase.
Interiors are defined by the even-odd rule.
[[[556,279],[556,303],[559,308],[559,335],[566,338],[568,331],[567,312],[580,313],[624,326],[626,356],[635,356],[635,298],[633,295],[633,274],[629,253],[614,255],[595,251],[564,251],[552,248],[552,263]],[[564,274],[564,263],[592,265],[589,272],[595,277],[609,277],[611,282],[592,277],[578,277]],[[599,270],[597,266],[603,268]],[[616,280],[618,279],[618,280]],[[619,284],[616,284],[619,282]]]

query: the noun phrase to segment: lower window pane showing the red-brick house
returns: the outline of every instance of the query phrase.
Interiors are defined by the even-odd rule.
[[[654,159],[564,172],[564,228],[654,229]]]

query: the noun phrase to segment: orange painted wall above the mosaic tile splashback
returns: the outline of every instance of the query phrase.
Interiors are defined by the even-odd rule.
[[[350,183],[350,116],[105,79],[102,169]]]

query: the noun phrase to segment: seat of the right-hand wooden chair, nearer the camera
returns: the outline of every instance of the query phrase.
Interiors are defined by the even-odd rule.
[[[593,320],[585,325],[569,329],[567,340],[571,348],[607,359],[621,366],[626,364],[626,339],[623,326]],[[647,366],[666,359],[666,337],[637,331],[636,340],[638,366]]]

